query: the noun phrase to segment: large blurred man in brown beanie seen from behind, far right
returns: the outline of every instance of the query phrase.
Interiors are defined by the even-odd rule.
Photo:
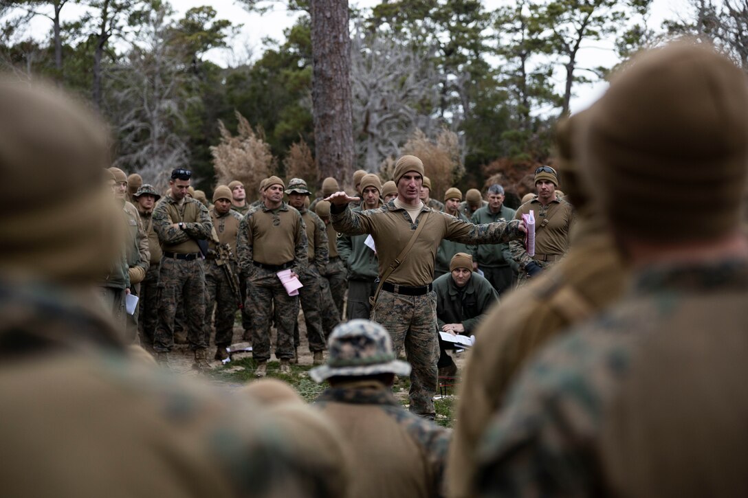
[[[524,369],[480,444],[482,494],[748,492],[746,108],[743,71],[678,43],[643,52],[589,109],[581,166],[633,285]],[[682,216],[682,192],[710,209]],[[609,429],[622,446],[601,448]]]

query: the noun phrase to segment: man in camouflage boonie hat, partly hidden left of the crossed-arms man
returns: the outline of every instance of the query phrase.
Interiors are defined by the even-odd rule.
[[[156,332],[156,325],[159,321],[159,265],[163,256],[159,234],[153,228],[153,206],[161,198],[159,192],[153,185],[142,185],[135,192],[135,207],[138,208],[138,214],[141,217],[143,230],[148,236],[148,252],[150,261],[148,271],[145,272],[145,278],[141,282],[140,301],[138,301],[138,334],[140,335],[141,345],[147,351],[153,351],[153,333]]]

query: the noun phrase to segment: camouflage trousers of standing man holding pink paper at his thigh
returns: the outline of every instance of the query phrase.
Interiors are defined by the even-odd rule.
[[[293,357],[293,328],[298,316],[298,296],[288,295],[281,279],[274,271],[255,267],[247,280],[247,301],[252,325],[252,357],[258,361],[270,359],[270,320],[275,304],[278,341],[275,356],[284,360]]]

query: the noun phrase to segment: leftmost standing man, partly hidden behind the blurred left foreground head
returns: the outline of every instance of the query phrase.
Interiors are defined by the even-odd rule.
[[[125,223],[127,225],[127,240],[125,242],[127,272],[129,280],[129,294],[140,296],[140,283],[150,267],[150,250],[148,249],[148,234],[143,228],[138,209],[128,202],[127,176],[118,167],[110,167],[114,173],[117,186],[114,189],[114,200],[122,208]],[[138,310],[140,303],[135,307],[135,313],[125,313],[126,339],[133,342],[138,338]]]

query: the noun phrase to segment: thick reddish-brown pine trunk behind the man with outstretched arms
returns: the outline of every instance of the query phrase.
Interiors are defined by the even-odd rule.
[[[312,0],[312,103],[319,178],[352,184],[355,150],[351,106],[348,0]]]

